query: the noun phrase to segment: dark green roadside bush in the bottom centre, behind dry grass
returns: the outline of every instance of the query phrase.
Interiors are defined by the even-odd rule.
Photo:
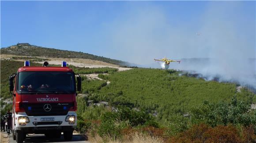
[[[89,125],[89,123],[87,125]],[[129,127],[158,127],[158,123],[154,121],[154,117],[150,114],[144,111],[134,111],[125,106],[118,106],[116,112],[105,112],[98,125],[90,124],[91,127],[87,127],[87,125],[86,122],[79,122],[79,128],[77,130],[90,129],[89,132],[92,134],[91,136],[98,134],[105,141],[109,139],[122,139],[124,135],[123,130]]]

